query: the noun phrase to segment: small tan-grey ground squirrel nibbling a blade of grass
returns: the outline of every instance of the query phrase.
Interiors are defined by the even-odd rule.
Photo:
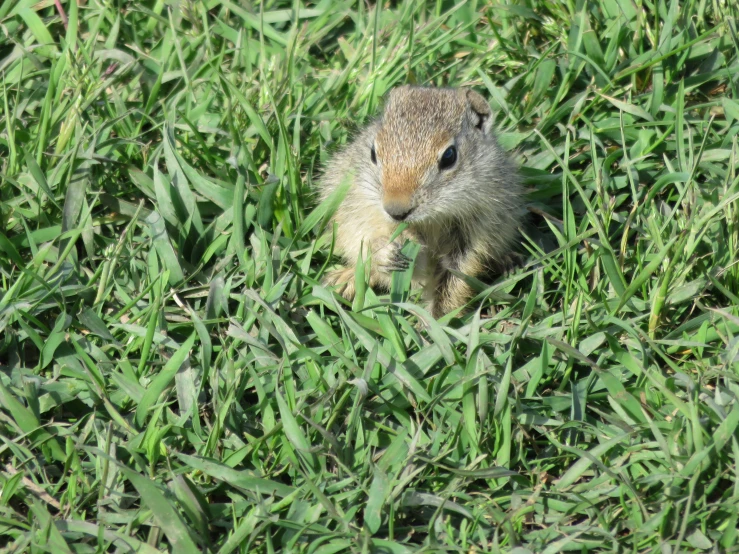
[[[326,198],[350,179],[333,217],[346,265],[325,283],[351,299],[364,245],[370,286],[387,289],[391,272],[408,267],[400,249],[411,239],[421,245],[414,283],[424,287],[432,314],[465,305],[473,291],[450,270],[499,272],[523,213],[518,172],[491,127],[490,106],[473,90],[391,90],[382,115],[331,159],[320,180]],[[407,228],[390,242],[401,222]]]

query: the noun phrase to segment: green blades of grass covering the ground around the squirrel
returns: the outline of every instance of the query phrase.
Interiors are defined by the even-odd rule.
[[[739,551],[738,16],[0,2],[0,547]],[[552,243],[439,322],[319,284],[407,82],[490,99]]]

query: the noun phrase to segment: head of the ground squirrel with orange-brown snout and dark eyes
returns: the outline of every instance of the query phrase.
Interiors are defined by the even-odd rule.
[[[473,90],[394,88],[367,151],[387,214],[410,223],[450,215],[494,161],[491,126],[490,106]]]

